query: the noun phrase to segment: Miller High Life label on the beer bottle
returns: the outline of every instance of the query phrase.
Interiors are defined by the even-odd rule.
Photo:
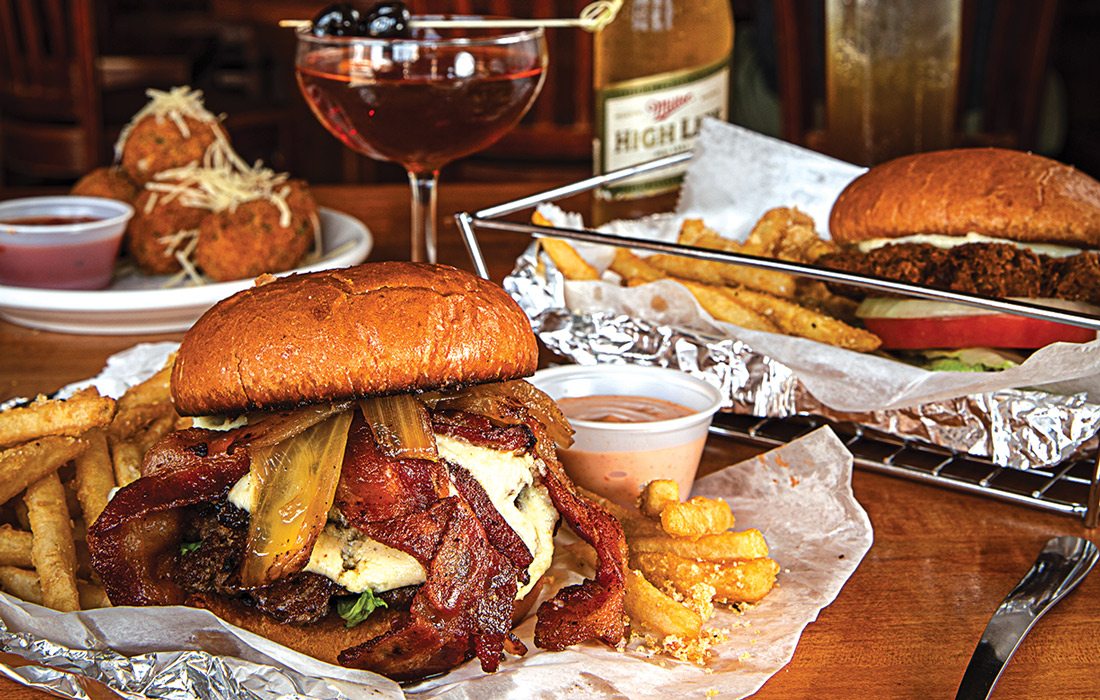
[[[704,67],[615,83],[596,94],[596,172],[609,173],[690,151],[705,117],[725,120],[729,56]],[[638,175],[601,188],[603,199],[675,189],[685,167]]]

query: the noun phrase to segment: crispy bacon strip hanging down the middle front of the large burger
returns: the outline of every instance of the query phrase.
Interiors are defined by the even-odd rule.
[[[477,420],[459,425],[476,430],[468,424],[480,426]],[[482,427],[486,429],[477,433],[477,439],[483,444],[503,440],[506,435],[524,444],[530,438],[526,429],[491,431],[487,422]],[[457,468],[461,471],[459,494],[448,496],[435,485],[440,479],[450,483],[443,464],[425,462],[417,466],[420,481],[403,480],[402,474],[409,472],[402,470],[420,460],[394,460],[377,449],[370,430],[353,433],[337,488],[337,506],[367,536],[415,557],[425,567],[427,580],[417,591],[405,624],[345,649],[341,663],[400,679],[410,678],[410,672],[422,675],[425,665],[453,665],[454,658],[476,655],[485,670],[495,670],[512,628],[519,576],[530,564],[526,545],[465,470]],[[375,483],[383,484],[381,496],[355,496],[364,493],[365,484]],[[496,519],[488,515],[486,504]],[[517,543],[522,555],[515,551]],[[509,550],[502,551],[502,547]],[[518,564],[525,560],[527,564]],[[409,656],[417,661],[410,664]]]

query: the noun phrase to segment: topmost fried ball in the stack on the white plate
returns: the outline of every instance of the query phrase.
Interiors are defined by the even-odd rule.
[[[147,114],[130,129],[122,143],[120,164],[130,177],[144,185],[153,176],[172,167],[201,162],[207,149],[219,138],[227,138],[217,121],[182,117],[188,133],[167,116]]]

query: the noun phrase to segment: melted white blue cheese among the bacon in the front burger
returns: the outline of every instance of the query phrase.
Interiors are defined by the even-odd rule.
[[[516,598],[526,595],[550,568],[553,557],[553,526],[558,521],[546,486],[535,483],[540,468],[530,455],[513,455],[471,445],[442,435],[436,436],[440,459],[465,468],[485,489],[493,505],[531,553],[530,580]],[[453,491],[453,484],[452,484]],[[229,492],[229,501],[252,511],[255,488],[245,474]],[[425,570],[411,556],[366,537],[348,527],[339,514],[330,514],[318,535],[305,571],[332,579],[352,593],[367,589],[378,593],[405,586],[424,583]]]

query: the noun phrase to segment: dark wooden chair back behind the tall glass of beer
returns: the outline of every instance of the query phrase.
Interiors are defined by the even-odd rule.
[[[783,138],[823,149],[824,3],[773,0]],[[957,100],[958,145],[1033,149],[1057,0],[964,0]],[[978,89],[975,89],[978,86]],[[977,132],[963,118],[977,111]]]

